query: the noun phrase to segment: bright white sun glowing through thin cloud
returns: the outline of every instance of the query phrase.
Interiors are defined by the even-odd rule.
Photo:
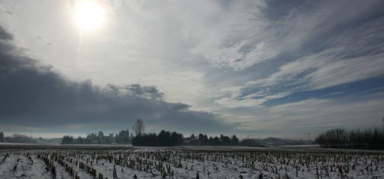
[[[73,10],[80,31],[94,31],[102,27],[105,21],[105,10],[95,1],[77,1]]]

